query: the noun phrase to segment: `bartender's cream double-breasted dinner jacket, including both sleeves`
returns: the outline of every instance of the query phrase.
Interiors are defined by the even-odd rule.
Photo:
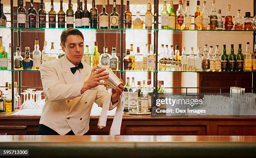
[[[44,88],[45,105],[40,124],[44,124],[60,135],[70,130],[75,135],[83,135],[89,130],[90,113],[93,102],[102,107],[108,91],[103,85],[84,91],[81,89],[91,74],[92,68],[82,61],[84,68],[81,71],[79,82],[75,81],[65,56],[41,65],[41,80]],[[118,105],[112,105],[109,110]]]

